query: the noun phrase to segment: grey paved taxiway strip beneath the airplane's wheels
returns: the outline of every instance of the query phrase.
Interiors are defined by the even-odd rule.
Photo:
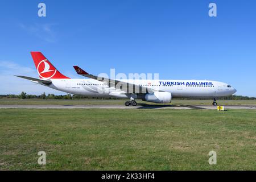
[[[0,109],[217,109],[212,105],[0,105]],[[256,109],[256,105],[226,105],[225,109]]]

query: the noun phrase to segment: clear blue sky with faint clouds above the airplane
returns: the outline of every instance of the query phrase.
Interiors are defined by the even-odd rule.
[[[46,17],[38,4],[46,3]],[[208,5],[217,4],[217,17]],[[160,79],[228,82],[256,96],[256,1],[1,1],[0,94],[60,94],[38,77],[30,51],[61,73],[159,73]]]

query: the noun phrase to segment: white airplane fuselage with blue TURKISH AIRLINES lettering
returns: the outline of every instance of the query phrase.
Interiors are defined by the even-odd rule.
[[[49,80],[49,79],[48,79]],[[71,94],[97,97],[129,98],[129,94],[120,89],[109,87],[94,79],[51,79],[49,88]],[[229,84],[210,80],[122,80],[146,88],[170,92],[172,98],[218,98],[236,93]],[[38,83],[38,82],[36,82]],[[208,84],[207,84],[208,83]],[[41,84],[43,85],[43,84]],[[44,85],[46,86],[46,85]]]

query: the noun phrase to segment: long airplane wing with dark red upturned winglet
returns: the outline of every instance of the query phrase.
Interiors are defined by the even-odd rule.
[[[94,80],[102,81],[108,84],[109,86],[115,86],[115,88],[120,88],[121,90],[127,92],[127,89],[129,88],[129,93],[153,93],[153,92],[158,92],[159,90],[154,90],[152,88],[148,88],[145,86],[137,85],[137,84],[131,84],[129,82],[125,81],[120,81],[120,80],[112,80],[110,78],[104,78],[104,77],[98,77],[91,75],[87,72],[85,72],[83,69],[73,66],[77,72],[78,75],[82,75],[88,78],[92,78]],[[132,90],[130,90],[132,89]]]

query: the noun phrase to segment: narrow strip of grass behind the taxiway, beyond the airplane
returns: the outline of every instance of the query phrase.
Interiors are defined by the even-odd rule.
[[[0,105],[123,105],[126,100],[0,99]],[[137,100],[138,104],[158,105]],[[172,100],[170,105],[212,105],[212,100]],[[218,105],[256,105],[256,100],[218,100]]]

